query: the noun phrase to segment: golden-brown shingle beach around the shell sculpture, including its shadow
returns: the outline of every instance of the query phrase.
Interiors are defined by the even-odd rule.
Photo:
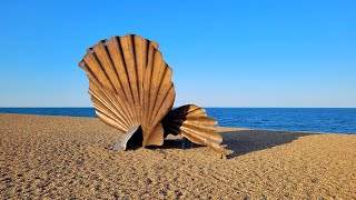
[[[235,152],[206,147],[110,150],[98,119],[0,114],[2,199],[356,198],[356,134],[219,128]]]

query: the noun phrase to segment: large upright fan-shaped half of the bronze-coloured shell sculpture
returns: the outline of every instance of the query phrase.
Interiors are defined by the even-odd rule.
[[[176,96],[172,70],[157,48],[135,34],[112,37],[89,48],[79,62],[97,116],[122,132],[141,126],[144,147],[164,143],[161,120]]]

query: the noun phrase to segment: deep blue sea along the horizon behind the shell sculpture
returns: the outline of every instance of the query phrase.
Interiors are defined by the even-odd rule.
[[[356,108],[207,108],[221,127],[356,134]],[[0,108],[0,113],[96,117],[92,108]]]

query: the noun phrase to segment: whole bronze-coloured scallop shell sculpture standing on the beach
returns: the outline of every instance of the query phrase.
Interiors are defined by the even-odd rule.
[[[216,132],[217,122],[197,106],[171,110],[176,92],[172,69],[164,61],[158,43],[127,34],[99,41],[79,62],[89,78],[96,113],[105,123],[123,132],[120,144],[162,146],[168,133],[211,147],[219,157],[227,151]]]

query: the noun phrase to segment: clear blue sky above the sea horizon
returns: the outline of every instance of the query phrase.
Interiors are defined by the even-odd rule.
[[[77,63],[126,33],[160,44],[176,106],[356,107],[354,0],[2,0],[0,107],[91,107]]]

